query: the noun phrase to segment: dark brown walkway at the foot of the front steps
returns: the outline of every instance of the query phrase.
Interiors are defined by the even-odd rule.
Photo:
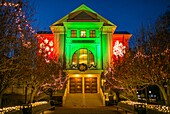
[[[125,112],[117,111],[114,106],[93,108],[56,107],[54,111],[45,111],[44,114],[125,114]]]

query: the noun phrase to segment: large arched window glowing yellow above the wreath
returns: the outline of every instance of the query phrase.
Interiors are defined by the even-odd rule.
[[[79,49],[72,56],[72,64],[87,64],[94,65],[94,55],[91,51],[87,49]]]

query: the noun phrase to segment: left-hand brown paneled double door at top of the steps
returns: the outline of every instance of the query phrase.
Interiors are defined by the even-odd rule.
[[[70,78],[70,93],[82,93],[82,78]]]

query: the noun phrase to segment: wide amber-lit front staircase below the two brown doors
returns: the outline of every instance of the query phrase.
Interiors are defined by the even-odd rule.
[[[103,106],[98,93],[67,94],[64,107],[99,107]]]

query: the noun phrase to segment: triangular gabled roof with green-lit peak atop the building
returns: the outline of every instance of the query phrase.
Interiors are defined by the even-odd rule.
[[[87,7],[85,4],[82,4],[81,6],[79,6],[78,8],[76,8],[75,10],[73,10],[63,18],[61,18],[60,20],[53,23],[51,26],[62,26],[63,22],[67,22],[70,20],[76,21],[76,19],[77,20],[81,19],[83,20],[83,22],[91,19],[92,21],[95,20],[95,21],[104,22],[104,26],[116,26],[112,22],[108,21],[106,18],[102,17],[101,15],[99,15],[98,13],[96,13],[95,11]]]

